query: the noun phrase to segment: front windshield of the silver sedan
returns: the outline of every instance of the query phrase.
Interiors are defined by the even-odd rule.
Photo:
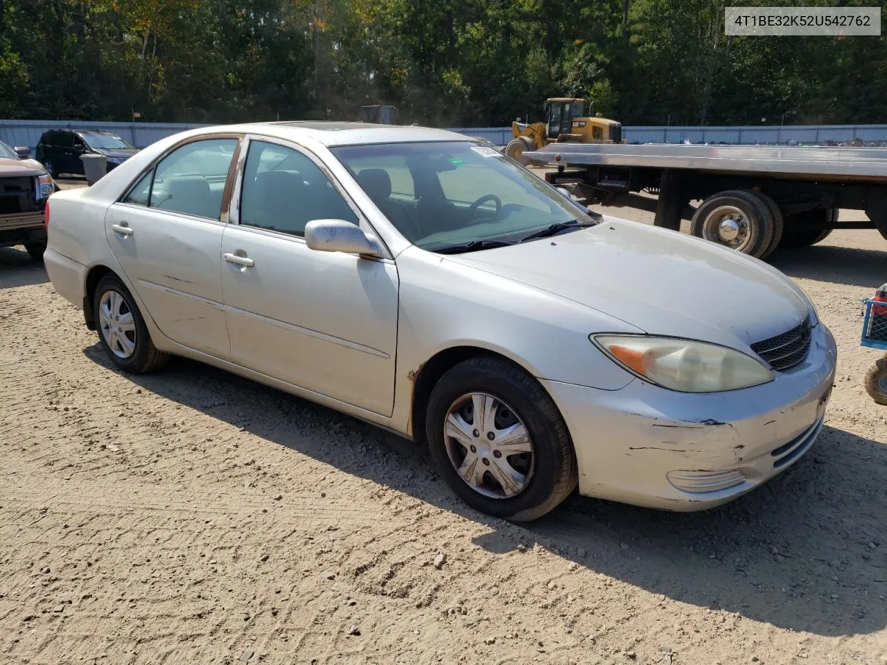
[[[591,223],[585,207],[473,141],[346,145],[332,152],[397,231],[431,252],[516,242],[555,223]]]

